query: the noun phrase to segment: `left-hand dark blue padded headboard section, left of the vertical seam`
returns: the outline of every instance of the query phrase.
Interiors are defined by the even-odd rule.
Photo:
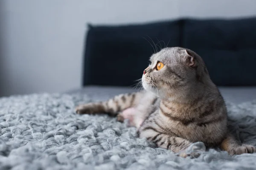
[[[154,43],[161,40],[165,45],[169,42],[169,47],[180,46],[179,27],[179,21],[89,26],[84,53],[83,85],[134,85],[134,81],[141,78],[143,70],[148,66],[149,57],[154,53],[148,42],[151,41],[150,38]],[[152,42],[151,44],[153,45]],[[164,47],[163,42],[157,45]]]

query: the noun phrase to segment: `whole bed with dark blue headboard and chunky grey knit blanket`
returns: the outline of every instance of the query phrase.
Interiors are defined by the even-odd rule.
[[[89,25],[83,88],[0,98],[0,170],[255,169],[256,153],[229,156],[197,142],[186,153],[200,156],[182,158],[137,138],[127,122],[74,111],[82,103],[137,91],[131,88],[134,80],[141,77],[154,52],[148,41],[158,38],[203,57],[237,136],[256,146],[255,30],[255,18]]]

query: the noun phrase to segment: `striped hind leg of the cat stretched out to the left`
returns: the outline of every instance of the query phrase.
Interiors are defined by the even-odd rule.
[[[78,114],[108,113],[116,116],[120,111],[138,104],[143,92],[119,94],[105,102],[91,102],[76,107]]]

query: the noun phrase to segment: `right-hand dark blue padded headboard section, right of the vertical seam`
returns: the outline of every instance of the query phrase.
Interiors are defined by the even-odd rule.
[[[183,22],[183,47],[204,59],[216,85],[256,85],[256,18]]]

